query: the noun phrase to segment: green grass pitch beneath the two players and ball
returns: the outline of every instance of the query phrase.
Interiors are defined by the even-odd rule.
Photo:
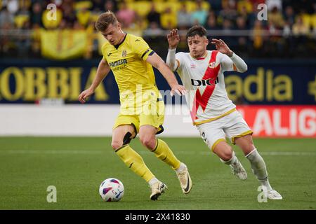
[[[108,137],[1,137],[0,209],[316,209],[316,139],[254,139],[273,188],[284,200],[259,203],[258,181],[234,146],[248,179],[239,181],[199,138],[163,138],[187,164],[193,187],[183,195],[175,172],[140,145],[131,146],[169,187],[150,201],[147,183],[115,155]],[[103,202],[100,183],[124,183],[120,202]],[[48,203],[48,186],[57,202]]]

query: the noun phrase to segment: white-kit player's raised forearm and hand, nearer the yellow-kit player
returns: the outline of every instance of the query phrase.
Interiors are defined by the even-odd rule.
[[[178,69],[178,64],[176,63],[176,48],[180,41],[180,36],[178,35],[178,29],[173,29],[167,35],[169,50],[166,58],[166,64],[170,69],[176,71]]]

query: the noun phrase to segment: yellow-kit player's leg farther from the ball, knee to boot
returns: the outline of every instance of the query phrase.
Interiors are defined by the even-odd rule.
[[[140,126],[140,141],[142,144],[154,153],[154,155],[170,165],[175,171],[180,181],[183,193],[190,193],[192,181],[187,166],[180,162],[173,154],[169,146],[161,139],[156,139],[158,129],[152,125]]]

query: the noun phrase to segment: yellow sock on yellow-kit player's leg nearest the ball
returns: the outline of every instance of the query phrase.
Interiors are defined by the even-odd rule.
[[[145,165],[145,162],[143,158],[140,157],[136,151],[133,151],[133,148],[131,148],[129,145],[121,146],[120,148],[117,148],[115,151],[117,155],[119,155],[119,158],[123,160],[123,162],[131,168],[131,170],[136,173],[138,176],[143,178],[145,181],[150,181],[150,179],[154,178],[154,175],[152,172],[150,172],[150,169]]]

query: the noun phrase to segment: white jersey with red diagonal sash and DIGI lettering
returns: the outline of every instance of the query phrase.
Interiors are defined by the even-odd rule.
[[[194,125],[216,120],[236,110],[228,99],[224,71],[236,70],[232,60],[218,50],[207,50],[205,57],[193,58],[178,52],[177,72],[188,90],[187,106]]]

